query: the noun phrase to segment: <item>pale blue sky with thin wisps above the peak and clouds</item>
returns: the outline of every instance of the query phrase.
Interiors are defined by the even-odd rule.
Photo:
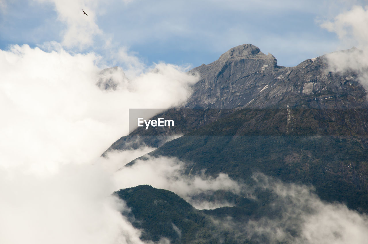
[[[124,47],[145,65],[192,67],[215,61],[231,47],[252,43],[272,53],[279,65],[347,49],[320,24],[365,1],[7,1],[0,0],[0,49],[11,44],[61,43],[70,52],[93,51],[124,64],[111,53]],[[89,16],[83,15],[83,8]],[[83,21],[88,21],[84,23]],[[70,30],[70,39],[65,41]],[[86,39],[73,33],[89,33]]]

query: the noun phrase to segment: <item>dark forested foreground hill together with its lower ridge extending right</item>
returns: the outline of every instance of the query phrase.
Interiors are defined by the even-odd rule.
[[[237,207],[198,210],[175,193],[141,185],[114,193],[124,200],[131,212],[124,212],[132,225],[142,230],[145,241],[169,240],[170,243],[243,243],[269,241],[259,234],[244,231],[244,223],[258,221],[262,216],[280,217],[280,199],[261,191],[258,201],[238,197]],[[291,222],[291,221],[290,221]],[[290,232],[300,226],[290,227]],[[164,241],[163,241],[164,242]],[[165,242],[164,242],[165,243]]]

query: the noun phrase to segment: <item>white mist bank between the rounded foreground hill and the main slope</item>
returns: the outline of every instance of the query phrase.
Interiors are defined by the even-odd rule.
[[[212,194],[217,190],[231,191],[234,194],[244,191],[243,186],[230,179],[227,174],[220,173],[217,177],[206,176],[204,173],[188,176],[184,175],[184,170],[185,164],[177,158],[145,156],[145,160],[139,159],[134,165],[121,168],[114,174],[114,179],[118,189],[149,184],[155,188],[173,191],[197,209],[231,206],[233,203],[198,200],[194,199],[195,195]]]

